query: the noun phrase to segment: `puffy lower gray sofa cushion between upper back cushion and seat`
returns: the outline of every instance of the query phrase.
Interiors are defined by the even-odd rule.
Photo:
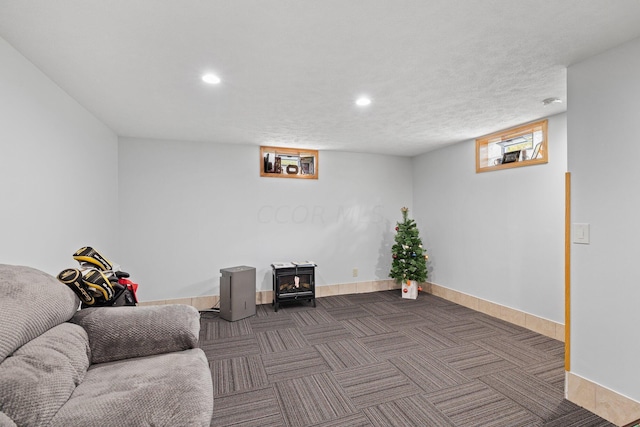
[[[45,426],[89,368],[89,339],[63,323],[17,349],[0,364],[0,410],[20,426]]]

